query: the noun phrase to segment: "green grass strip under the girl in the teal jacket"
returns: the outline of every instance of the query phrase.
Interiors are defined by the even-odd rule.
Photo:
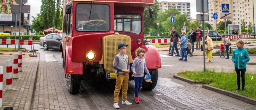
[[[247,96],[256,99],[256,74],[245,73],[245,90],[246,92],[238,91],[237,89],[237,75],[236,73],[226,73],[226,72],[215,72],[215,70],[203,71],[186,71],[180,72],[178,76],[192,79],[195,81],[202,81],[206,84],[217,87],[220,89],[235,92],[237,94]],[[240,86],[242,83],[240,83]],[[242,87],[240,87],[242,89]]]

